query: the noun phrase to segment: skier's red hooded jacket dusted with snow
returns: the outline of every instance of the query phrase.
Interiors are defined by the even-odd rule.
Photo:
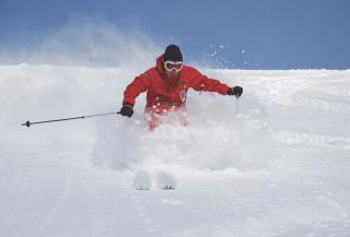
[[[226,84],[209,79],[188,66],[183,67],[176,80],[170,80],[166,78],[162,61],[163,56],[160,56],[155,67],[135,78],[124,92],[122,104],[135,105],[138,95],[147,92],[147,111],[163,114],[171,108],[184,106],[188,88],[223,95],[230,88]]]

